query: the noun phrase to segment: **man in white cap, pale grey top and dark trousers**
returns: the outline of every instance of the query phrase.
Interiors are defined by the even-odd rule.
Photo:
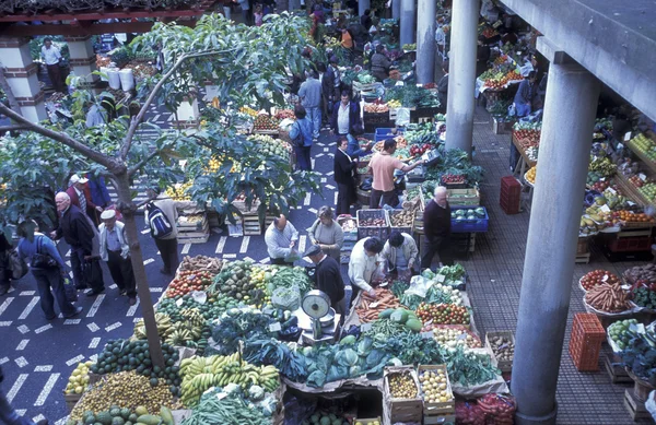
[[[125,224],[116,220],[115,210],[103,211],[101,220],[103,221],[98,227],[101,258],[107,262],[107,268],[120,295],[127,295],[130,305],[133,306],[137,303],[137,285]]]

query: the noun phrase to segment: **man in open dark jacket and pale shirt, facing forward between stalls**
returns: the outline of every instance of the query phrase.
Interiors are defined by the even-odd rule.
[[[371,150],[371,143],[360,147],[355,139],[355,135],[364,132],[362,119],[360,118],[360,105],[356,102],[351,102],[351,94],[345,90],[341,93],[341,102],[332,107],[330,128],[331,134],[337,134],[340,138],[343,137],[349,140],[347,153],[352,158],[358,158]]]

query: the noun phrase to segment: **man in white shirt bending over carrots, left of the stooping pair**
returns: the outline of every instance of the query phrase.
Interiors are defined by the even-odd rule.
[[[353,284],[353,296],[360,291],[366,291],[372,297],[376,296],[376,291],[372,287],[372,278],[378,268],[378,253],[383,250],[383,243],[377,237],[366,237],[358,240],[351,251],[349,261],[349,279]]]

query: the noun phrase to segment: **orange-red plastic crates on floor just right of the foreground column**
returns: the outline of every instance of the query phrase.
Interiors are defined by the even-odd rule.
[[[606,339],[606,331],[597,315],[577,312],[574,315],[570,356],[579,371],[599,370],[599,352]]]

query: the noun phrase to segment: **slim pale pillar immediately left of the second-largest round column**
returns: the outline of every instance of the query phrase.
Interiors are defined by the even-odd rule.
[[[435,0],[419,0],[417,16],[417,82],[435,79]]]

